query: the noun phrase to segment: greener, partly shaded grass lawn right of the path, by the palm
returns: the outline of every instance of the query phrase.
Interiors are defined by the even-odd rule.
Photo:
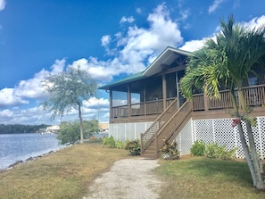
[[[253,188],[246,162],[189,157],[160,163],[155,172],[166,182],[161,199],[265,198]]]

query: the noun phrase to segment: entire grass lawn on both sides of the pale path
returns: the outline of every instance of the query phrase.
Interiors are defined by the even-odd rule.
[[[97,144],[72,145],[12,170],[0,172],[0,198],[82,198],[89,184],[127,151]],[[160,161],[161,199],[265,198],[253,189],[245,162],[203,157]],[[136,174],[137,175],[137,174]]]

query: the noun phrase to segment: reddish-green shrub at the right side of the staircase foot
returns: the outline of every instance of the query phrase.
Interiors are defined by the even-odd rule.
[[[164,144],[160,149],[161,158],[166,160],[175,160],[179,158],[179,152],[177,148],[177,143],[174,141],[173,143],[169,143],[167,139],[164,139]]]

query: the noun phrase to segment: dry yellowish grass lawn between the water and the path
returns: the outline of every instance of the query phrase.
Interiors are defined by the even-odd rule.
[[[82,198],[93,179],[126,157],[99,144],[72,145],[1,172],[0,198]]]

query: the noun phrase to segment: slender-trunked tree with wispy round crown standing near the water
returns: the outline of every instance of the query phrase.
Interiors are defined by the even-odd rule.
[[[43,102],[44,109],[53,112],[51,120],[63,116],[72,108],[79,110],[80,143],[84,142],[81,106],[84,100],[96,95],[97,82],[87,71],[69,68],[66,71],[48,77],[43,87],[48,99]]]

